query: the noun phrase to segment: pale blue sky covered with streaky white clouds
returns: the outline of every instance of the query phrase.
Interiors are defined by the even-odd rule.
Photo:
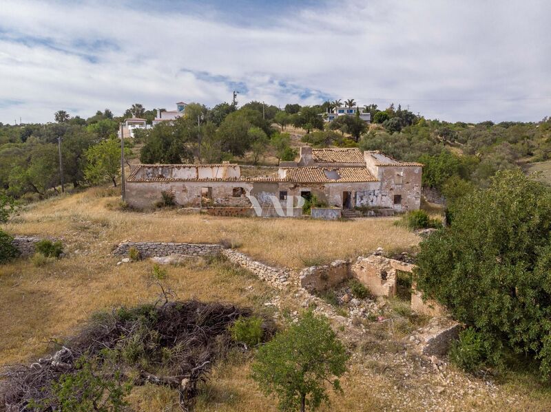
[[[0,122],[135,102],[390,102],[551,115],[551,1],[0,0]]]

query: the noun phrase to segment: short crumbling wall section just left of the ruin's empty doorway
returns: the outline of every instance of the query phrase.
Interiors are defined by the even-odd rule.
[[[337,260],[329,265],[304,268],[298,278],[300,286],[309,292],[323,292],[351,278],[350,263]]]

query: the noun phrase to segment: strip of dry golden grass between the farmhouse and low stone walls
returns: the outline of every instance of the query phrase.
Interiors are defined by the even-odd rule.
[[[105,191],[93,188],[33,204],[8,230],[19,235],[65,237],[80,250],[88,247],[86,243],[94,243],[105,253],[125,239],[198,243],[230,239],[241,245],[242,252],[291,268],[301,268],[304,259],[312,257],[324,261],[353,258],[379,246],[406,250],[419,242],[417,235],[393,225],[396,218],[311,221],[184,215],[176,209],[124,212],[106,208],[118,201],[102,197]]]

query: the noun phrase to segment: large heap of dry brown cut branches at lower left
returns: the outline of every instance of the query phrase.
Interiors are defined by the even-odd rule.
[[[116,369],[133,385],[151,382],[173,387],[180,393],[181,408],[188,411],[197,384],[206,380],[211,363],[234,345],[228,326],[249,315],[249,310],[222,303],[165,301],[163,305],[121,308],[95,316],[63,345],[52,342],[56,345],[54,354],[3,373],[1,392],[6,409],[28,410],[29,402],[48,400],[49,406],[43,410],[57,410],[55,399],[52,402],[52,383],[63,374],[77,373],[77,360],[83,356],[101,359],[114,351],[116,356],[110,356],[110,361],[115,358],[116,362],[110,363],[111,373]]]

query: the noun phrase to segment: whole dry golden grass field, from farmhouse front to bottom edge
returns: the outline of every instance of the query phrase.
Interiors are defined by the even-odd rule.
[[[176,209],[122,211],[117,204],[110,188],[92,188],[32,204],[7,226],[13,234],[61,237],[67,256],[40,267],[30,259],[0,266],[1,365],[36,358],[48,340],[72,334],[98,310],[156,300],[160,290],[151,262],[116,265],[112,248],[125,239],[209,243],[227,239],[252,257],[294,269],[367,254],[378,246],[408,250],[419,242],[416,235],[395,226],[393,218],[209,217],[184,215]],[[220,261],[197,259],[167,271],[163,285],[177,299],[228,301],[269,313],[264,303],[282,295],[249,272]],[[286,310],[300,310],[292,294],[281,298]],[[323,412],[551,410],[548,389],[532,378],[517,376],[487,385],[450,367],[435,371],[430,361],[406,354],[385,331],[373,329],[360,341],[345,339],[353,358],[342,380],[344,396],[332,394],[332,403]],[[276,411],[276,400],[264,397],[249,378],[250,356],[236,353],[214,367],[202,386],[196,411]],[[444,389],[437,391],[438,387]],[[177,401],[174,391],[153,385],[138,387],[129,396],[132,409],[142,412],[180,411]]]

